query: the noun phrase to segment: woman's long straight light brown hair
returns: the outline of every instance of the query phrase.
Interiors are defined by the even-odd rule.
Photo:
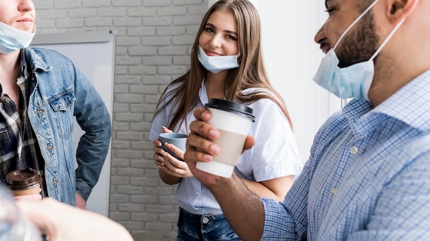
[[[177,86],[174,90],[169,91],[168,94],[166,94],[166,90],[164,90],[157,103],[157,112],[155,112],[154,116],[163,111],[168,105],[172,104],[176,108],[172,108],[172,113],[170,114],[173,118],[168,128],[173,129],[183,121],[185,121],[185,125],[188,126],[188,123],[186,123],[187,115],[189,112],[192,112],[199,103],[199,90],[206,73],[205,68],[203,68],[199,62],[197,54],[199,36],[205,29],[207,19],[212,12],[216,10],[227,10],[231,12],[238,23],[239,67],[231,69],[227,73],[227,77],[223,83],[225,99],[229,101],[238,101],[244,104],[253,103],[262,98],[271,99],[279,105],[292,128],[291,118],[286,110],[284,100],[269,82],[264,67],[261,47],[260,16],[252,3],[247,0],[220,0],[214,3],[206,12],[192,47],[190,70],[187,71],[185,75],[172,81],[166,88],[167,90],[171,86]],[[246,90],[247,88],[262,88],[262,90],[257,90],[252,94],[242,94],[242,90]],[[271,96],[270,93],[273,94],[274,97]],[[167,95],[171,95],[170,100],[161,105],[161,100]]]

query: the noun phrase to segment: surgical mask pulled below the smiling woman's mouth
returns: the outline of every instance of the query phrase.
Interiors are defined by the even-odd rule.
[[[228,55],[228,56],[207,56],[205,51],[199,45],[199,61],[203,67],[214,74],[220,71],[225,71],[230,68],[237,68],[238,55]]]

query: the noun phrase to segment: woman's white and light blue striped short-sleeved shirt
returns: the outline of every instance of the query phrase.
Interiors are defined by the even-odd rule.
[[[255,90],[245,90],[245,94],[252,91]],[[208,101],[204,81],[200,90],[200,100],[197,107],[203,107]],[[267,181],[286,175],[299,175],[302,171],[302,161],[299,158],[293,132],[278,105],[269,99],[261,99],[248,106],[253,109],[253,115],[256,116],[249,131],[249,135],[256,138],[256,144],[240,156],[235,168],[236,175],[252,181]],[[149,136],[151,141],[158,138],[162,132],[161,126],[167,127],[170,123],[171,110],[172,106],[168,106],[155,116]],[[188,113],[188,125],[194,120],[192,112]],[[174,131],[188,134],[185,123]],[[179,205],[192,214],[223,214],[210,190],[194,177],[181,180],[176,196]]]

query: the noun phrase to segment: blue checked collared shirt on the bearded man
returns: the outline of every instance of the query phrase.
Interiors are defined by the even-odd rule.
[[[331,116],[286,199],[263,203],[262,240],[430,240],[430,71]]]

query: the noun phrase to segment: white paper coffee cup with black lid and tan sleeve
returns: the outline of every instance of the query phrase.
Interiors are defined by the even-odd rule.
[[[255,118],[253,110],[223,99],[210,99],[205,107],[212,114],[208,123],[220,131],[219,138],[214,140],[220,153],[214,155],[211,162],[197,162],[196,168],[220,177],[231,177]]]

